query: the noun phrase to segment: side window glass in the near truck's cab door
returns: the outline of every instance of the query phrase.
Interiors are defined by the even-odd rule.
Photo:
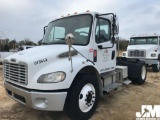
[[[110,26],[105,19],[98,19],[96,26],[96,43],[103,43],[110,40]]]

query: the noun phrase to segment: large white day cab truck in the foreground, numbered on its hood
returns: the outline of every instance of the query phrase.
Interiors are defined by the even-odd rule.
[[[7,95],[33,109],[89,119],[104,92],[146,80],[143,61],[116,57],[118,28],[113,13],[75,13],[51,21],[41,46],[3,61]]]

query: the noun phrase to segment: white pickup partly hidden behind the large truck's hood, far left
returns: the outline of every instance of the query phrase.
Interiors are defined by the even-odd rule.
[[[8,57],[8,56],[10,56],[10,55],[18,52],[18,51],[26,50],[26,49],[29,49],[29,48],[32,48],[32,47],[34,47],[34,46],[23,45],[23,46],[15,49],[15,50],[10,50],[9,52],[3,52],[3,51],[1,51],[0,52],[0,64],[3,63],[4,58],[6,58],[6,57]]]

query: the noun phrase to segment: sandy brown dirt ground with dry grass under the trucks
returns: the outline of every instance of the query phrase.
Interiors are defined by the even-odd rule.
[[[135,120],[141,105],[160,105],[160,73],[148,70],[144,85],[122,86],[99,101],[90,120]],[[70,120],[64,112],[27,108],[10,99],[4,90],[0,69],[0,120]]]

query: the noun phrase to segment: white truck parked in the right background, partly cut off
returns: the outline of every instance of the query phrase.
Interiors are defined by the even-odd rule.
[[[122,53],[122,57],[144,61],[148,67],[152,67],[154,72],[158,72],[160,69],[160,36],[132,36],[127,51]]]

